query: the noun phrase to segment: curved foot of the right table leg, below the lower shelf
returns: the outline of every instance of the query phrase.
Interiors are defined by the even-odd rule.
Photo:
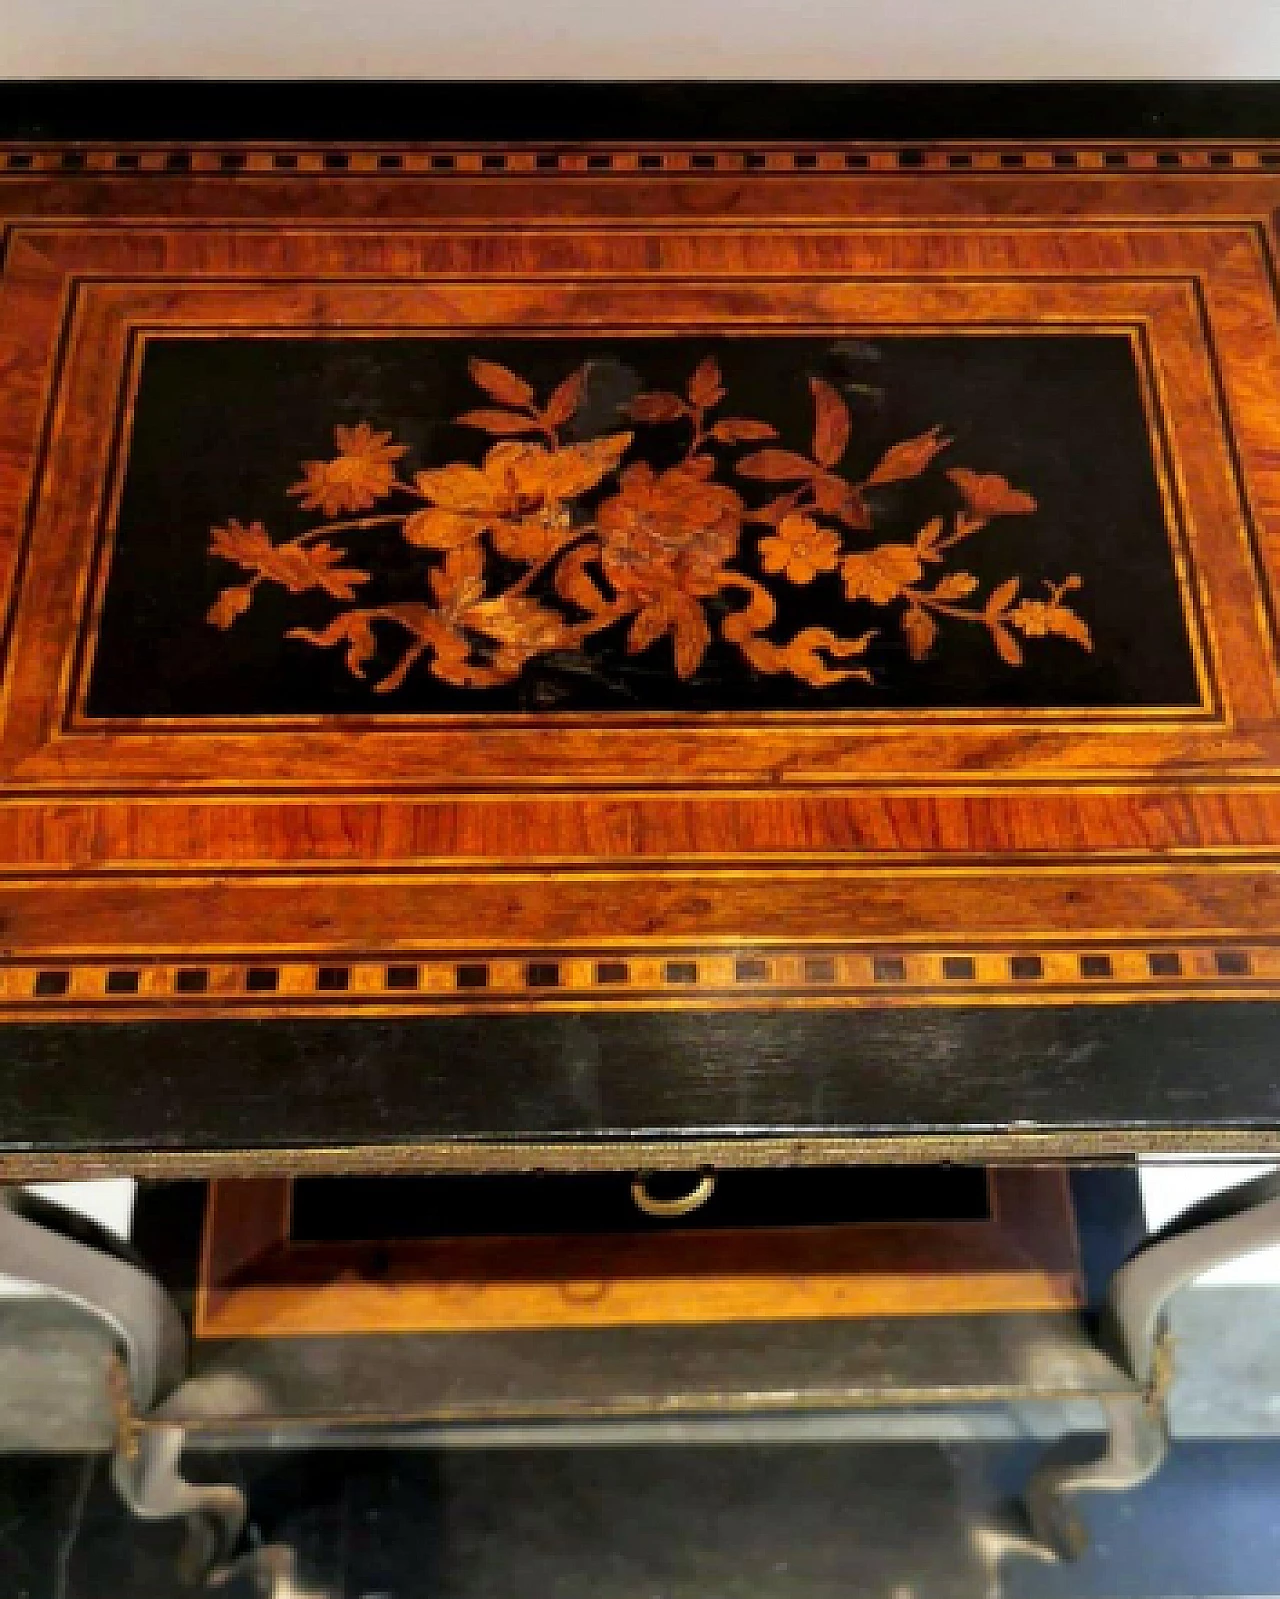
[[[1061,1561],[1077,1561],[1088,1548],[1088,1530],[1071,1503],[1082,1492],[1120,1493],[1146,1482],[1168,1452],[1168,1431],[1159,1406],[1143,1394],[1103,1404],[1107,1436],[1088,1460],[1042,1461],[1028,1485],[1024,1509],[1039,1545]]]

